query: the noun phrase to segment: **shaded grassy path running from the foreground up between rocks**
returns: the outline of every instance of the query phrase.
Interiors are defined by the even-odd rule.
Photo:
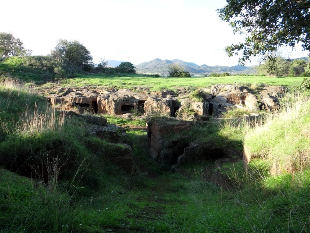
[[[195,205],[184,185],[189,182],[188,178],[157,169],[158,164],[148,156],[145,130],[128,133],[138,139],[133,151],[139,171],[146,176],[145,187],[131,193],[134,200],[130,205],[132,212],[127,215],[127,222],[131,222],[129,227],[114,228],[113,231],[183,232],[185,227],[185,231],[193,232]]]

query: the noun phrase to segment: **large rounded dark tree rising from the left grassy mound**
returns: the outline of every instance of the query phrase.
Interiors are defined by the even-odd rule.
[[[86,47],[77,40],[68,41],[59,39],[56,43],[55,50],[51,51],[53,57],[66,66],[66,70],[82,71],[92,66],[91,53]]]

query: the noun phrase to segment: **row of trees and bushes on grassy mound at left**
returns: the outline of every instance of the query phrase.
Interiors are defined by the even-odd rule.
[[[31,56],[19,38],[11,33],[0,32],[0,75],[55,79],[88,73],[135,73],[130,62],[122,62],[115,68],[107,67],[104,57],[99,64],[93,63],[90,51],[77,40],[59,39],[55,48],[46,56]]]

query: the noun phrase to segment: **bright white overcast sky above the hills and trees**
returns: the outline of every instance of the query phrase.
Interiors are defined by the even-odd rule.
[[[135,65],[155,58],[234,66],[225,46],[243,41],[216,9],[226,0],[11,0],[1,2],[0,32],[20,38],[33,55],[47,55],[58,39],[78,40],[101,57]],[[301,48],[284,57],[306,57]],[[246,65],[257,65],[256,59]]]

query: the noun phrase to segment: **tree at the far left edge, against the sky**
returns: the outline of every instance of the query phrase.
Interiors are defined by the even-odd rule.
[[[0,32],[1,57],[22,56],[27,53],[28,51],[24,48],[23,42],[19,38],[15,38],[11,33]]]

